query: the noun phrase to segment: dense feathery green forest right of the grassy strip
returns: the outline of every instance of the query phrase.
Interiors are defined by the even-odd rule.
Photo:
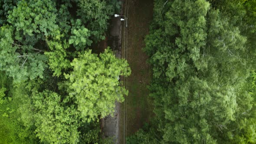
[[[256,0],[154,0],[155,118],[128,144],[256,143]]]

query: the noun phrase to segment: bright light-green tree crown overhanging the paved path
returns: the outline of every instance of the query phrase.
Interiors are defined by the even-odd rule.
[[[80,54],[71,62],[73,71],[66,75],[69,79],[69,94],[76,97],[78,110],[85,120],[91,121],[114,112],[115,101],[124,101],[128,91],[119,86],[119,75],[128,76],[131,69],[124,59],[105,49],[99,57],[91,50]]]

